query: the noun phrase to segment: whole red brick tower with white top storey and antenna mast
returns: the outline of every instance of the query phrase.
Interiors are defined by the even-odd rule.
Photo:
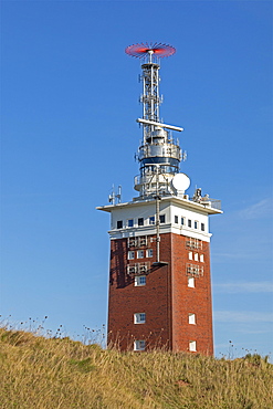
[[[107,344],[212,355],[209,216],[222,212],[221,202],[201,189],[187,193],[177,138],[183,129],[160,119],[159,62],[175,48],[141,43],[125,52],[141,61],[143,139],[137,196],[122,202],[113,192],[97,208],[111,213]]]

